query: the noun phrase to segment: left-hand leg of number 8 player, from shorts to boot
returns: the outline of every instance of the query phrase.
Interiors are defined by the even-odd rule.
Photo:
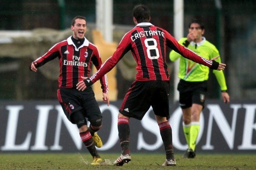
[[[130,128],[129,118],[133,117],[142,120],[145,113],[150,108],[148,102],[148,92],[145,88],[144,81],[134,81],[131,88],[126,93],[123,103],[118,114],[118,136],[122,148],[122,154],[113,163],[122,166],[124,163],[131,161],[130,144]]]

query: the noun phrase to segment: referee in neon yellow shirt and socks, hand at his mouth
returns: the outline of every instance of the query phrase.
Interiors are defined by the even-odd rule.
[[[204,25],[200,20],[193,20],[189,24],[187,37],[181,38],[179,43],[206,59],[219,57],[219,51],[203,36]],[[170,60],[180,58],[178,77],[178,91],[180,92],[180,107],[183,115],[183,131],[187,140],[188,149],[184,158],[195,158],[196,139],[200,130],[200,113],[204,108],[205,94],[207,92],[207,80],[210,69],[182,57],[175,51],[170,52]],[[216,61],[221,62],[219,57]],[[221,87],[223,101],[229,103],[229,94],[223,71],[213,70]]]

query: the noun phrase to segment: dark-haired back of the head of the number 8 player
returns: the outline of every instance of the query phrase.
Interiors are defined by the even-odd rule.
[[[133,8],[133,17],[137,20],[138,23],[149,22],[150,10],[146,5],[136,5]]]

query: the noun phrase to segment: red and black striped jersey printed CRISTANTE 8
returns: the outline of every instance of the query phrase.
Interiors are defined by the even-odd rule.
[[[132,51],[133,57],[137,62],[136,70],[138,73],[136,74],[136,80],[169,80],[166,64],[166,46],[192,61],[212,69],[218,68],[217,62],[205,59],[181,46],[166,30],[155,27],[151,23],[139,23],[124,35],[114,54],[90,80],[93,83],[99,80],[99,77],[108,73],[129,50]]]

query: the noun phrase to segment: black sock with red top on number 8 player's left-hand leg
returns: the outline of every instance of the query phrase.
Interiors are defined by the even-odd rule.
[[[130,155],[130,127],[129,127],[129,119],[120,117],[118,118],[118,123],[117,123],[117,128],[118,128],[118,136],[119,136],[119,141],[121,144],[122,148],[122,154],[123,155]]]

